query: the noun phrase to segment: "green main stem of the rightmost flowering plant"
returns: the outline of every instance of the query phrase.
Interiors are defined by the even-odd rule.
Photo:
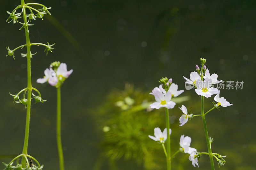
[[[206,143],[207,143],[207,147],[208,147],[209,158],[210,158],[210,162],[211,162],[211,169],[214,170],[212,150],[211,150],[207,126],[206,126],[206,122],[205,122],[205,118],[204,118],[204,96],[201,96],[201,100],[202,100],[201,115],[202,115],[202,120],[203,120],[203,124],[204,124],[204,133],[205,133]]]

